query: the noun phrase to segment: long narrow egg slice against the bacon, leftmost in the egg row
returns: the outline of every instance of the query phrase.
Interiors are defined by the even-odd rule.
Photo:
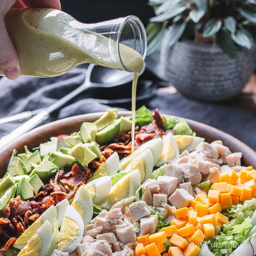
[[[18,237],[13,247],[21,250],[44,222],[49,221],[50,225],[54,227],[54,219],[56,219],[56,209],[52,205]]]

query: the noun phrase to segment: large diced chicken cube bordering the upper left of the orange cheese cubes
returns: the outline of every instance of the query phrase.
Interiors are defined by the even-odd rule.
[[[185,189],[176,189],[175,192],[169,197],[169,202],[176,208],[189,207],[191,200],[194,197]]]

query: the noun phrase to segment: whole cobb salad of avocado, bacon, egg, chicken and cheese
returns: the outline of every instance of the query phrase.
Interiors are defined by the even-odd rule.
[[[15,149],[0,180],[5,256],[254,255],[256,170],[186,120],[108,109]],[[240,246],[239,246],[240,245]]]

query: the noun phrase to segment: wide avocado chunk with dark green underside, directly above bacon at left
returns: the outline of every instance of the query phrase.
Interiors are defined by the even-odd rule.
[[[32,170],[29,177],[32,177],[34,174],[37,174],[41,180],[46,181],[52,178],[56,174],[58,169],[58,166],[45,159],[42,163],[40,163],[40,165],[38,165],[35,169]]]

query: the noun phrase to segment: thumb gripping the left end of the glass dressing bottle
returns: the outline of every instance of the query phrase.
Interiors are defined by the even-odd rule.
[[[20,75],[20,64],[17,52],[5,27],[4,17],[0,17],[0,70],[9,79]]]

